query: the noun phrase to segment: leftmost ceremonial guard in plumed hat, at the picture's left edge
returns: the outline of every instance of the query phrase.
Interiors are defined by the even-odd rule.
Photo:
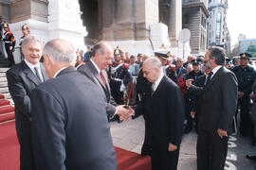
[[[13,34],[9,30],[9,24],[4,22],[2,26],[5,30],[5,33],[3,35],[3,41],[5,42],[5,48],[8,54],[9,67],[10,67],[11,65],[15,64],[12,52],[14,51],[16,41]]]

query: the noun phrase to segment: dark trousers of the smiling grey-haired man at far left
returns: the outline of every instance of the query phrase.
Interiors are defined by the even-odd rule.
[[[20,170],[35,170],[32,153],[31,123],[16,122],[17,137],[20,143]]]

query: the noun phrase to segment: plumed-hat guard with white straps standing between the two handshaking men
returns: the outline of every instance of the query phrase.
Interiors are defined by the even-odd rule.
[[[123,91],[125,85],[132,81],[132,76],[129,74],[129,65],[122,62],[120,59],[121,51],[119,47],[114,50],[114,63],[109,69],[110,72],[110,89],[113,98],[118,104],[123,104]]]

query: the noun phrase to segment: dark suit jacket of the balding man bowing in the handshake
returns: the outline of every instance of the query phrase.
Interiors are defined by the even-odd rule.
[[[151,145],[168,149],[168,144],[179,145],[183,131],[185,107],[179,87],[167,76],[163,76],[155,93],[147,93],[135,109],[144,114],[150,125]]]

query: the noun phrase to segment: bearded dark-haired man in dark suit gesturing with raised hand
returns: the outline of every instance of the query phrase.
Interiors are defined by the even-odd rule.
[[[224,67],[225,50],[210,47],[204,65],[211,69],[205,87],[186,85],[192,93],[202,94],[202,112],[198,123],[197,169],[224,170],[232,118],[237,105],[236,76]]]

